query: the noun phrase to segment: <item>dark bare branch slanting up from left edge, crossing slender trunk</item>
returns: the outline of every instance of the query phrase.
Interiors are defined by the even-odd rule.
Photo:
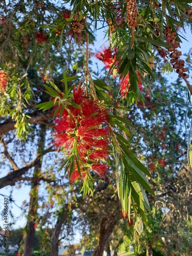
[[[24,180],[22,175],[24,175],[25,173],[27,173],[27,171],[29,169],[34,167],[39,162],[39,159],[41,158],[42,155],[45,155],[52,151],[54,151],[53,146],[48,147],[47,150],[42,152],[42,154],[37,154],[36,159],[34,161],[32,161],[30,164],[28,164],[25,167],[20,168],[18,170],[13,170],[13,172],[11,172],[8,175],[1,178],[0,179],[0,188],[6,187],[8,185],[14,186],[17,181]]]

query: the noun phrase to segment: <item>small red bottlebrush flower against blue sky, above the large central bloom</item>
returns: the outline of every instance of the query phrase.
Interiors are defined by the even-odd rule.
[[[115,61],[115,57],[112,54],[112,50],[109,47],[104,46],[95,54],[95,57],[104,63],[105,69],[110,69]]]

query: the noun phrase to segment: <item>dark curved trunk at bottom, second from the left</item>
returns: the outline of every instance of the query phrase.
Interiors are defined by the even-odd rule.
[[[55,228],[53,230],[53,234],[51,237],[51,256],[58,256],[59,251],[59,234],[61,232],[62,224],[65,223],[68,217],[69,209],[63,208],[62,212],[58,216]]]

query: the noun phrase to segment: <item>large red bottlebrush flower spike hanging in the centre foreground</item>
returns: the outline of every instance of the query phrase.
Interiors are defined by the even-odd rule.
[[[70,156],[72,151],[73,154],[76,152],[71,182],[78,178],[84,180],[87,175],[90,175],[91,170],[103,177],[108,169],[105,160],[109,159],[110,154],[108,111],[90,95],[86,95],[84,88],[80,86],[74,87],[73,97],[70,100],[78,104],[81,109],[68,104],[61,117],[59,114],[56,115],[55,145],[62,147],[67,152],[67,156]]]

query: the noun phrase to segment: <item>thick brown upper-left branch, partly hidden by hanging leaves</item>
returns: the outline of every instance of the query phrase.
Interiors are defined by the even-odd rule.
[[[41,113],[39,115],[36,115],[32,118],[29,119],[29,122],[32,123],[32,124],[42,124],[44,123],[45,121],[51,119],[53,117],[53,113],[51,112],[47,112],[47,113]],[[1,123],[0,124],[0,136],[12,131],[15,129],[14,127],[15,125],[15,122],[14,121],[6,121],[5,123]]]

